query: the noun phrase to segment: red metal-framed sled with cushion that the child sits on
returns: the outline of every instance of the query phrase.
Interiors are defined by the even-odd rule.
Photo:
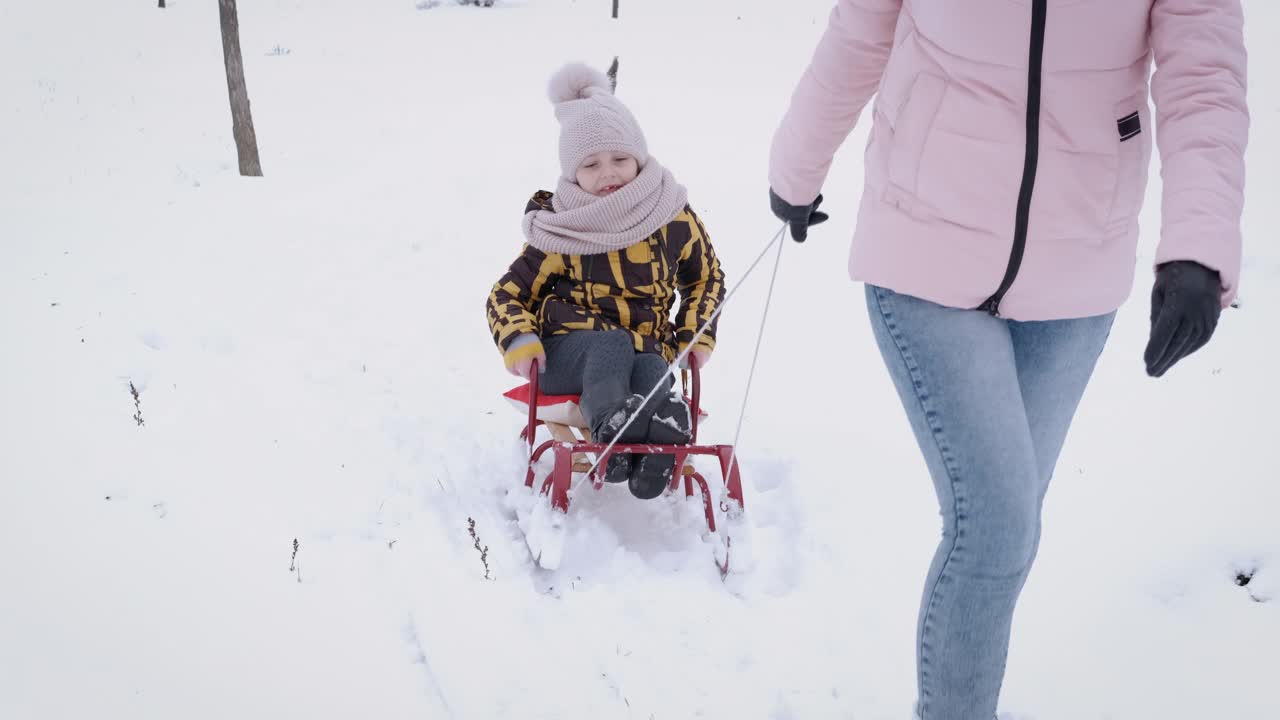
[[[529,413],[529,421],[520,433],[522,441],[529,442],[529,468],[525,474],[525,487],[534,487],[534,465],[548,451],[553,457],[553,466],[547,479],[539,488],[540,496],[549,496],[553,510],[568,514],[568,489],[573,473],[589,473],[588,480],[591,487],[600,489],[604,480],[600,478],[603,469],[608,464],[608,456],[600,457],[607,443],[594,442],[588,430],[586,420],[579,410],[579,396],[576,395],[543,395],[538,391],[538,363],[534,361],[530,370],[531,379],[527,384],[520,386],[504,393],[517,407],[525,406]],[[689,445],[650,445],[650,443],[618,443],[609,450],[609,456],[616,452],[643,454],[643,455],[675,455],[676,468],[680,469],[671,479],[668,493],[678,492],[681,480],[685,486],[685,497],[692,497],[694,487],[703,497],[703,511],[707,518],[707,529],[712,534],[716,530],[714,502],[707,479],[699,473],[690,459],[695,455],[710,455],[719,459],[721,479],[724,483],[724,497],[719,502],[719,509],[727,518],[739,519],[745,511],[742,502],[742,480],[739,474],[739,462],[731,445],[698,445],[698,424],[707,414],[701,410],[701,375],[696,359],[689,355],[689,370],[685,373],[684,387],[691,391],[692,396],[685,396],[689,401],[690,415],[692,418],[692,441]],[[538,427],[544,425],[552,439],[536,445]],[[536,447],[535,447],[536,445]],[[589,457],[598,460],[593,461]],[[595,470],[591,470],[591,465]],[[728,574],[728,538],[724,538],[723,561],[716,560],[721,577]]]

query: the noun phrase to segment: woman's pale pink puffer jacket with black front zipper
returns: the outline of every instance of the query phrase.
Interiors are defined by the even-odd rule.
[[[854,279],[1018,320],[1108,313],[1133,287],[1155,56],[1156,263],[1217,270],[1226,305],[1243,24],[1239,0],[840,0],[774,136],[771,186],[812,202],[876,95]]]

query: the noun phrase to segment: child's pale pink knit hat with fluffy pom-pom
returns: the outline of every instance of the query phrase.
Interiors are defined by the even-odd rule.
[[[570,63],[552,76],[548,95],[561,123],[561,173],[573,181],[589,155],[626,152],[643,168],[649,149],[640,124],[613,96],[609,78],[582,63]]]

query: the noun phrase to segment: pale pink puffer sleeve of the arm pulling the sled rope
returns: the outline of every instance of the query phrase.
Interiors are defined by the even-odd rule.
[[[813,202],[831,160],[879,87],[902,0],[840,0],[769,151],[769,187]]]

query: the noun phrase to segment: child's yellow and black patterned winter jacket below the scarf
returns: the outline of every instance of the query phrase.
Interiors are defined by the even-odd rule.
[[[550,210],[550,192],[536,192],[525,213]],[[680,310],[672,323],[677,291]],[[494,283],[485,307],[503,352],[522,333],[622,328],[631,332],[636,351],[671,363],[723,300],[724,273],[707,229],[686,205],[658,232],[612,252],[563,255],[525,245]],[[714,323],[696,347],[716,347]]]

